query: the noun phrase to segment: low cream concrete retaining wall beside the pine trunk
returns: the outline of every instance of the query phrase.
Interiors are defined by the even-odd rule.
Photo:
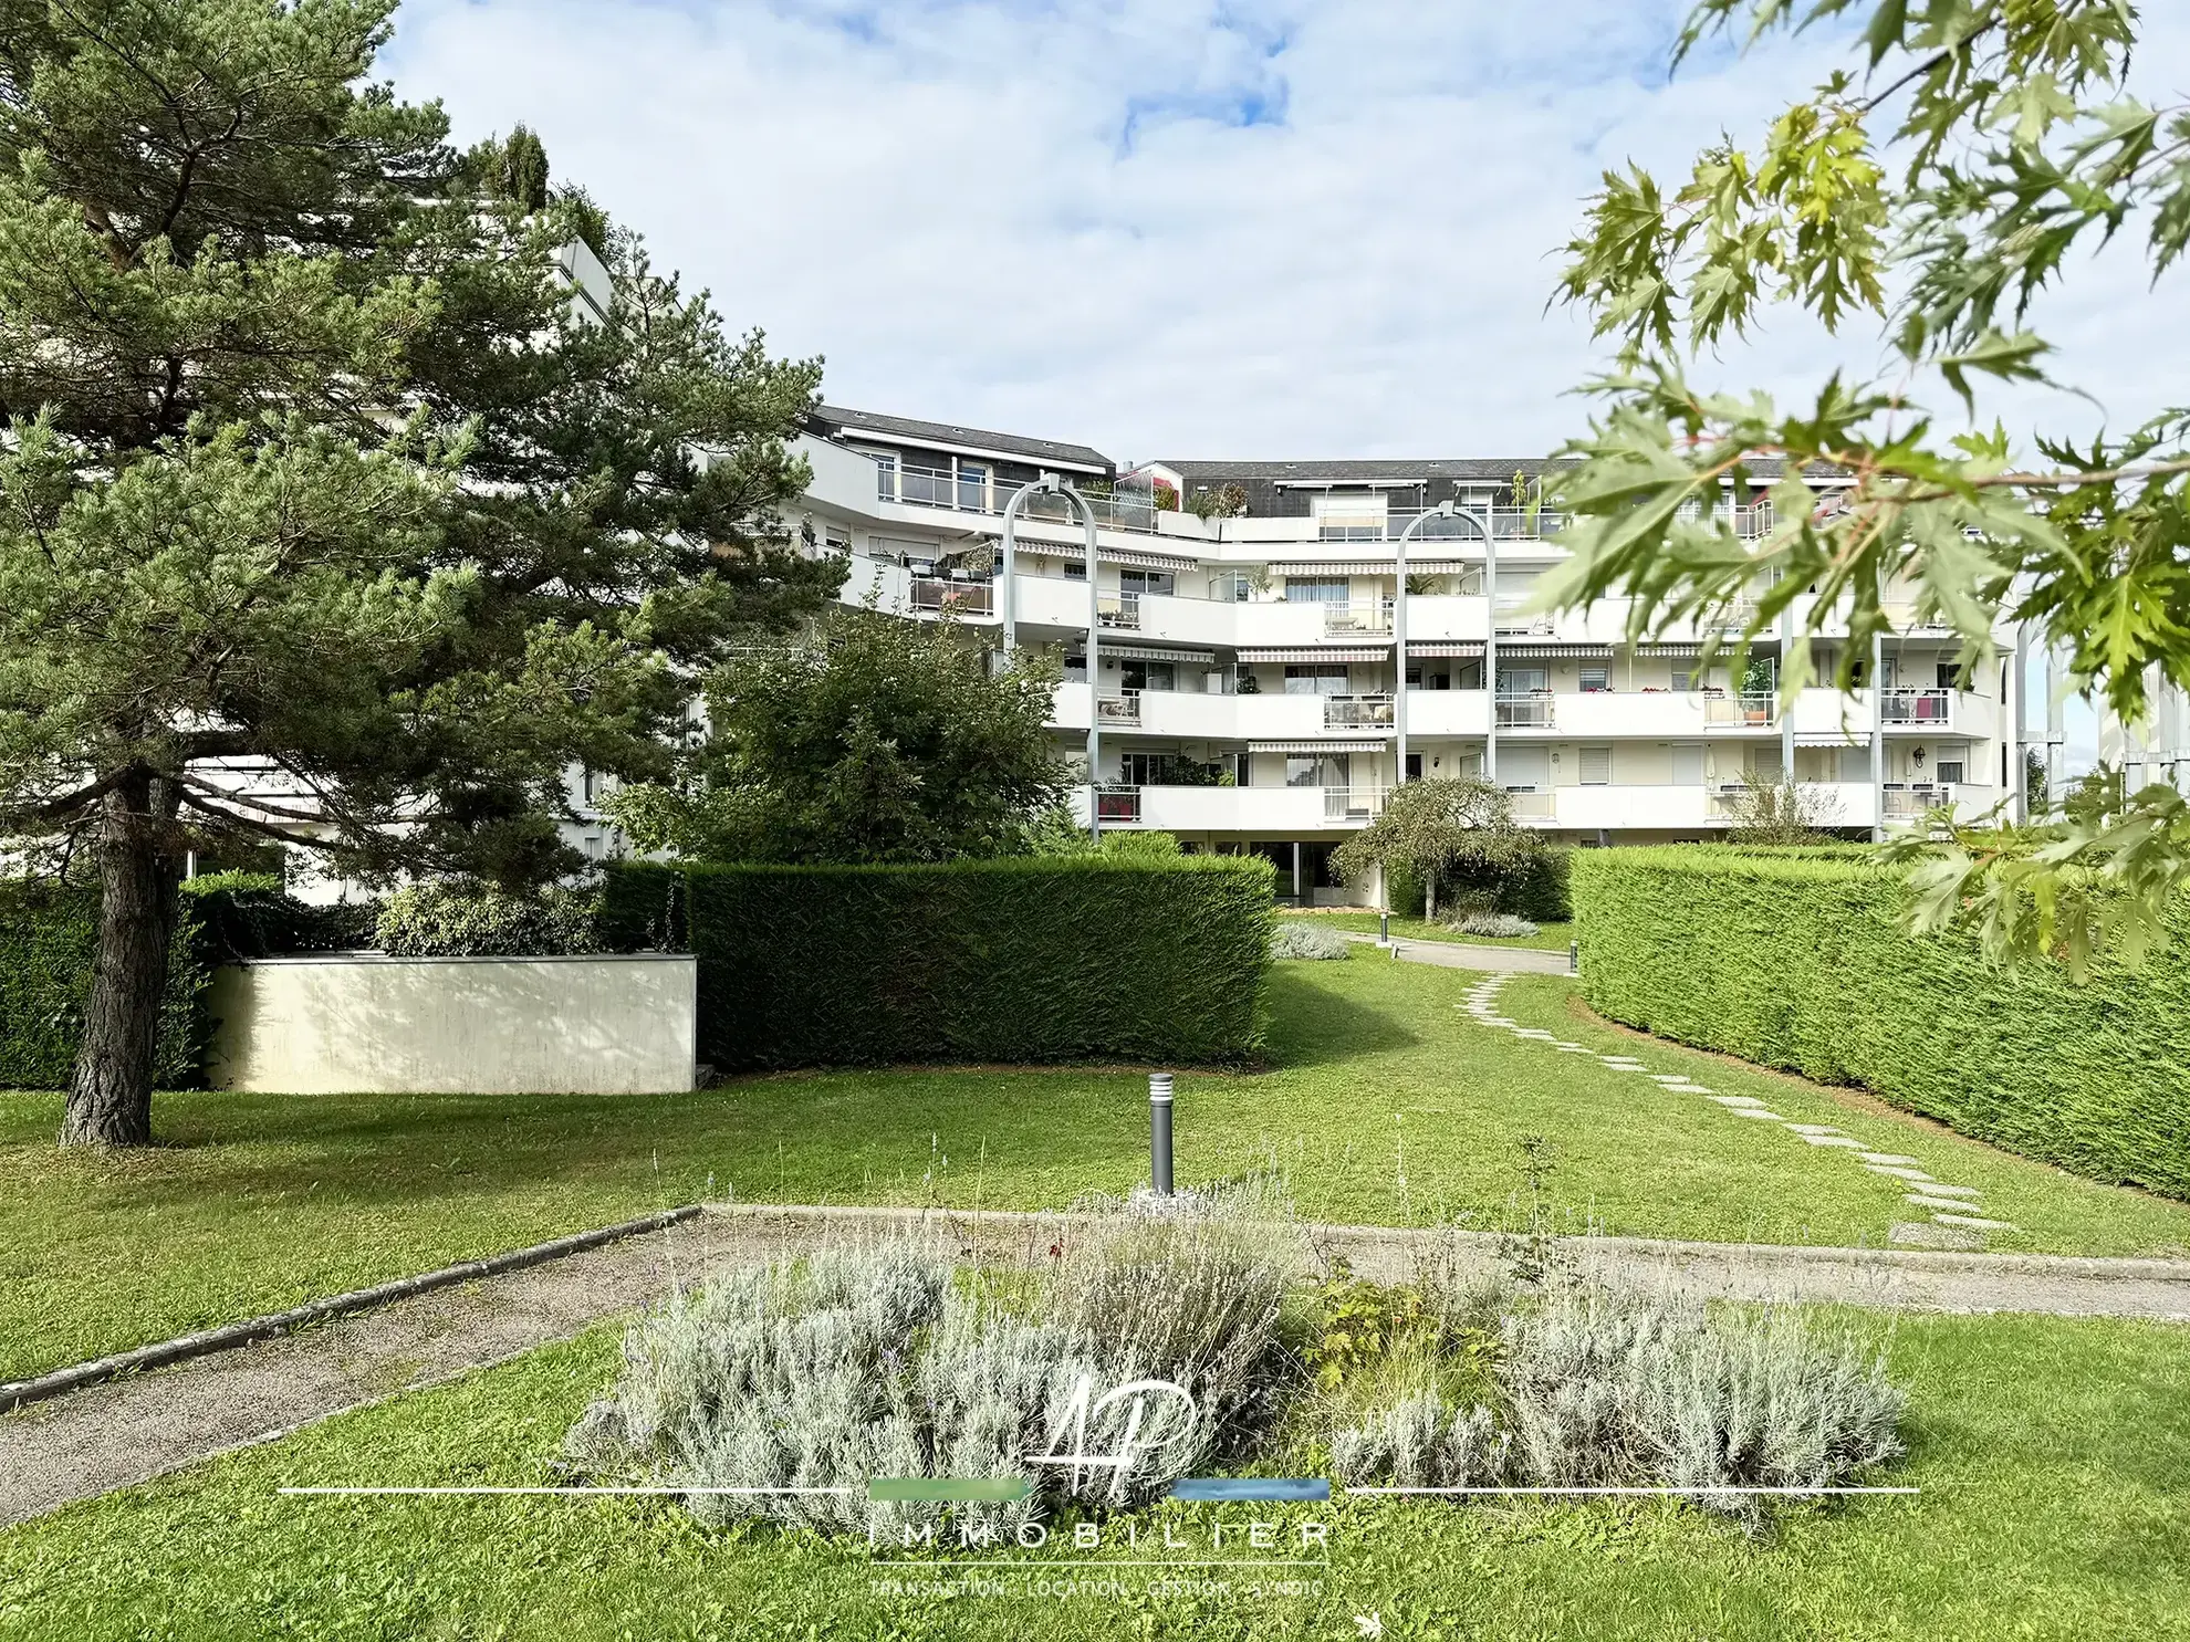
[[[696,1086],[699,965],[637,952],[331,952],[212,976],[215,1088],[280,1095],[642,1095]]]

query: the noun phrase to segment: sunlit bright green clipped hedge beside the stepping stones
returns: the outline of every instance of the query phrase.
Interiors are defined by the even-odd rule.
[[[2190,1198],[2190,909],[2144,968],[2074,985],[1905,935],[1905,898],[1864,852],[1588,849],[1581,985],[1614,1020]]]

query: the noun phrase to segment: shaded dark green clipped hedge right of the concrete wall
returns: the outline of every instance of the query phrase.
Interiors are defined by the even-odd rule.
[[[1237,1062],[1261,1049],[1270,865],[622,867],[613,946],[699,955],[718,1071]]]

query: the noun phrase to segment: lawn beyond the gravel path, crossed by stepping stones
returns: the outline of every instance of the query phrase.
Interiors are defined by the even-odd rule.
[[[1180,1180],[1281,1169],[1305,1215],[1518,1222],[1522,1136],[1544,1136],[1564,1224],[1772,1244],[1883,1244],[1901,1187],[1778,1125],[1469,1020],[1476,981],[1399,963],[1283,963],[1272,1068],[1187,1073]],[[1511,1011],[1568,1025],[1570,985]],[[1594,1033],[1594,1036],[1592,1036]],[[2024,1233],[2002,1248],[2164,1254],[2190,1204],[2076,1180],[1783,1079],[1649,1047],[1907,1152]],[[166,1145],[59,1154],[55,1095],[0,1095],[0,1379],[710,1195],[1062,1206],[1126,1191],[1148,1156],[1134,1071],[854,1071],[675,1097],[162,1095]]]

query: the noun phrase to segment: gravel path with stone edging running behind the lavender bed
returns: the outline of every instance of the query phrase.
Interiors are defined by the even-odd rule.
[[[0,1416],[0,1526],[175,1471],[385,1397],[504,1362],[668,1294],[703,1272],[828,1239],[929,1226],[968,1257],[1047,1259],[1071,1215],[721,1206],[664,1233],[396,1300],[215,1357]],[[1494,1233],[1310,1226],[1362,1276],[1406,1276],[1424,1250],[1491,1272]],[[2153,1316],[2190,1322],[2190,1261],[1564,1239],[1607,1283],[1741,1300],[1837,1300],[1927,1311]]]

